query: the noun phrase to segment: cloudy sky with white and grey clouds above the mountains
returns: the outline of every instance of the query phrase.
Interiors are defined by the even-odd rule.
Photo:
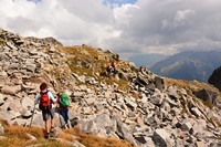
[[[123,59],[221,49],[221,0],[0,0],[0,28]]]

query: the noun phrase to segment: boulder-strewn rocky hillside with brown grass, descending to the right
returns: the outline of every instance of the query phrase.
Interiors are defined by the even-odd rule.
[[[64,122],[56,114],[55,125],[61,132],[54,144],[74,146],[77,140],[77,146],[113,147],[220,145],[221,95],[209,84],[161,77],[108,50],[86,44],[63,46],[53,38],[22,38],[6,30],[0,30],[0,51],[1,145],[20,140],[15,135],[19,132],[36,139],[24,136],[20,145],[17,141],[13,146],[44,146],[41,143],[50,141],[42,138],[40,109],[34,111],[33,127],[29,128],[42,82],[50,85],[54,95],[65,92],[71,101],[72,128],[61,130]],[[108,76],[106,66],[113,61],[117,73]],[[62,137],[63,133],[75,137]],[[92,135],[94,143],[88,143],[86,135]],[[115,139],[108,140],[112,138]],[[108,144],[98,145],[102,140]]]

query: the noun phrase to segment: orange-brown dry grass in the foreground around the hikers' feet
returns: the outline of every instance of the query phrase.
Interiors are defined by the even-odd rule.
[[[0,120],[1,123],[3,120]],[[2,123],[3,124],[3,123]],[[31,141],[30,134],[36,138]],[[4,125],[4,137],[0,139],[1,147],[23,147],[29,145],[40,145],[40,147],[69,147],[65,143],[56,140],[44,139],[43,128],[40,127],[22,127],[22,126],[8,126]],[[80,133],[80,128],[65,129],[57,135],[57,138],[62,138],[67,141],[78,140],[86,147],[131,147],[129,143],[115,138],[102,138],[93,135],[85,135]]]

